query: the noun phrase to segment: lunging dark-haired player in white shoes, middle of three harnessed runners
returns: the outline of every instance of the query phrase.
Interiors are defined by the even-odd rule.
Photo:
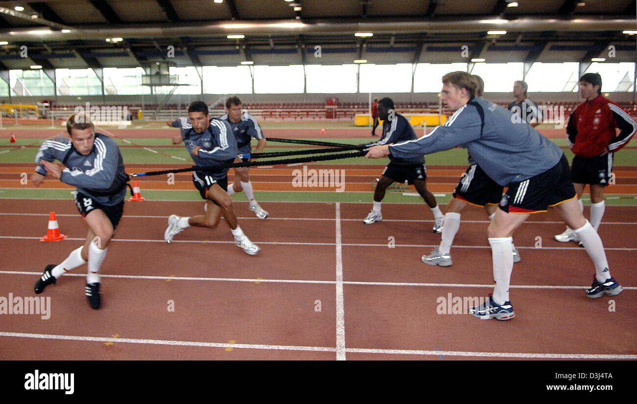
[[[171,214],[164,239],[171,242],[173,237],[190,226],[217,228],[221,215],[230,226],[234,244],[245,253],[255,255],[261,248],[243,233],[234,214],[233,200],[225,192],[228,186],[225,164],[237,157],[237,143],[230,125],[220,120],[210,120],[208,106],[203,101],[195,101],[188,108],[188,118],[179,119],[182,139],[192,160],[197,166],[208,167],[210,171],[193,171],[192,182],[206,200],[204,214],[180,217]]]

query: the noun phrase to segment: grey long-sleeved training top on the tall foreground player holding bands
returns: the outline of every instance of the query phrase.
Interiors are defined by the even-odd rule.
[[[389,146],[394,157],[409,158],[462,146],[498,185],[524,181],[554,167],[564,153],[527,123],[482,97],[471,99],[426,136]]]

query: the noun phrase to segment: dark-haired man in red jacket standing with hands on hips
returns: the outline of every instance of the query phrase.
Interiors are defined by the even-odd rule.
[[[582,193],[590,185],[590,224],[598,230],[605,210],[604,188],[612,178],[613,154],[628,144],[637,124],[617,103],[601,95],[599,73],[580,78],[580,95],[585,101],[571,113],[566,127],[568,145],[575,153],[571,179],[582,210]],[[555,240],[580,242],[568,227]]]

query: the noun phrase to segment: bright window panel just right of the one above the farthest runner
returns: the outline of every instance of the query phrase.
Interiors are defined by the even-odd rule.
[[[254,67],[255,94],[299,94],[304,84],[303,65]]]

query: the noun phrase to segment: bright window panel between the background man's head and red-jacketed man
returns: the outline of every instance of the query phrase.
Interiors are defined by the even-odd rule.
[[[529,92],[574,92],[577,91],[578,72],[578,62],[535,62],[524,81],[529,85]]]

